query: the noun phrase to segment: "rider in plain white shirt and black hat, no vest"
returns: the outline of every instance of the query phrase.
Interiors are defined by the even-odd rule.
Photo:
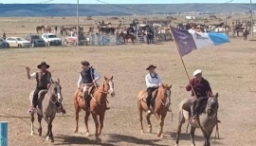
[[[146,68],[146,70],[149,71],[149,73],[145,77],[146,85],[147,85],[147,92],[148,92],[148,97],[147,97],[148,114],[151,114],[150,104],[151,104],[151,99],[152,99],[152,93],[162,83],[160,77],[155,72],[155,68],[156,68],[156,66],[153,64],[149,65]]]

